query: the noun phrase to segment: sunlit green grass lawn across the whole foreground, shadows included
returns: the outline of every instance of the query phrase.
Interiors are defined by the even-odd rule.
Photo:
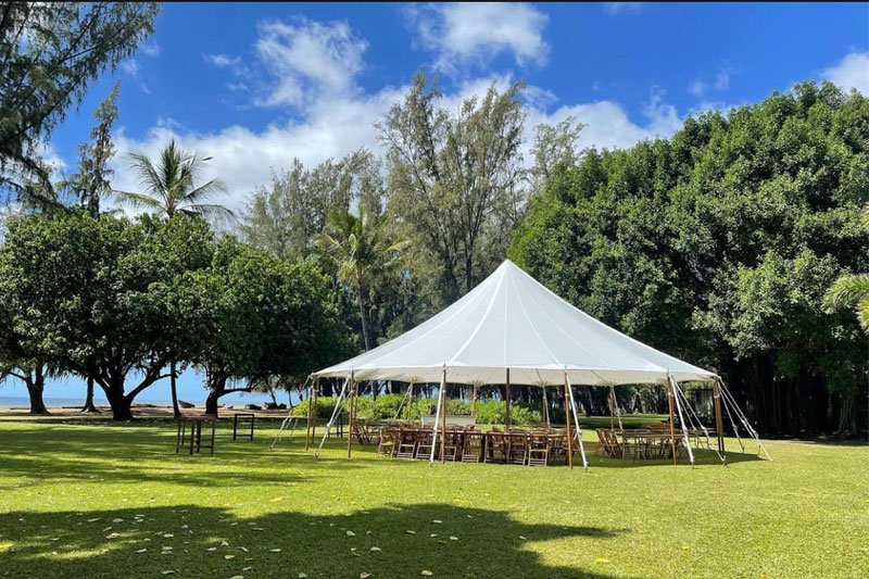
[[[0,423],[0,576],[869,576],[866,446],[583,473],[347,460],[342,440],[317,462],[298,435],[269,452],[275,426],[232,442],[224,423],[191,457],[171,423]]]

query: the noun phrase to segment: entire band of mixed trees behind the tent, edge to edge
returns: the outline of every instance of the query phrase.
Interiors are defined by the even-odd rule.
[[[40,143],[158,13],[10,2],[0,18],[0,380],[22,380],[32,412],[62,374],[87,379],[86,408],[101,388],[116,418],[158,380],[175,398],[190,366],[210,412],[235,390],[299,388],[427,319],[509,254],[607,324],[715,367],[766,433],[866,424],[868,347],[848,311],[869,328],[865,97],[806,83],[624,151],[579,150],[581,119],[567,118],[534,127],[524,159],[521,83],[446,108],[419,73],[373,127],[382,156],[288,159],[269,184],[231,192],[247,196],[236,214],[213,202],[227,191],[205,178],[207,151],[175,141],[124,160],[137,190],[112,187],[115,85],[77,171],[54,178]],[[148,214],[121,218],[118,206]],[[587,413],[608,411],[605,390],[581,390]],[[627,412],[666,405],[655,388],[617,394]]]

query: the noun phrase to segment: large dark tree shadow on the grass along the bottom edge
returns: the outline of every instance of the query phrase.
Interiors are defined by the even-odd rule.
[[[160,577],[173,570],[174,577],[355,579],[429,570],[434,577],[605,578],[618,562],[599,554],[621,532],[526,525],[505,512],[453,504],[253,519],[196,505],[14,512],[0,518],[0,568],[15,577]],[[532,549],[546,541],[558,541],[554,549],[567,559],[594,569],[545,564]]]

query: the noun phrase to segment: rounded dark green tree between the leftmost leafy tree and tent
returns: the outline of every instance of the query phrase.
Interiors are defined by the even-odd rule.
[[[291,263],[223,240],[206,269],[155,287],[179,324],[184,360],[205,374],[205,412],[264,381],[301,383],[350,353],[330,284],[313,262]]]

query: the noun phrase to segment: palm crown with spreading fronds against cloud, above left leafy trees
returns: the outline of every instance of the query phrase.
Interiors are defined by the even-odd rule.
[[[202,215],[209,219],[227,221],[235,217],[227,207],[204,203],[226,191],[222,181],[212,179],[196,185],[203,166],[211,161],[179,148],[175,139],[160,152],[156,165],[143,153],[133,153],[130,168],[139,177],[144,192],[115,191],[118,199],[134,207],[162,213],[172,218],[178,214]]]

